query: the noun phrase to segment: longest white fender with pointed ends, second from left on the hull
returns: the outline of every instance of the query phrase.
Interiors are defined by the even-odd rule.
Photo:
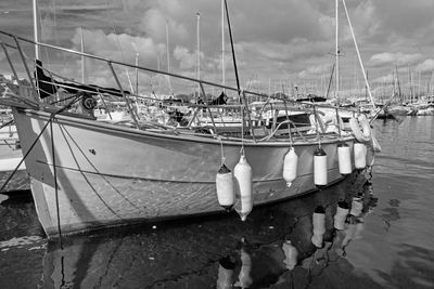
[[[235,189],[241,201],[241,208],[238,213],[241,220],[245,221],[253,208],[252,168],[245,156],[241,155],[240,161],[233,169],[233,176],[237,181]]]

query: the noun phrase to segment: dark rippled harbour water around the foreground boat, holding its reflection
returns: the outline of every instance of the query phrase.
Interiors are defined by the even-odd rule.
[[[374,126],[383,152],[372,178],[255,208],[246,222],[231,213],[143,224],[64,238],[61,250],[30,196],[0,196],[0,288],[434,288],[434,118]],[[336,202],[357,194],[361,214],[332,229]],[[319,205],[322,248],[310,240]]]

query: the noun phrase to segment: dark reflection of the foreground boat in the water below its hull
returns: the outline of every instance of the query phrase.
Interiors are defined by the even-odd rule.
[[[332,188],[259,207],[246,222],[235,213],[201,222],[174,221],[50,241],[43,259],[43,288],[292,288],[306,286],[330,262],[336,274],[350,267],[345,248],[358,237],[363,215],[375,207],[366,171]],[[333,228],[337,201],[361,197],[358,216]],[[320,248],[311,242],[312,212],[326,211]],[[347,270],[349,272],[349,270]],[[348,273],[349,274],[349,273]],[[341,285],[345,277],[336,278]],[[356,276],[348,276],[354,281]],[[363,283],[368,283],[365,280]]]

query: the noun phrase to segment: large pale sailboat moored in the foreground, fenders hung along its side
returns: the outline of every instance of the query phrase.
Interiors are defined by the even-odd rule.
[[[372,155],[367,155],[367,147],[357,142],[360,133],[369,139],[361,141],[371,141],[370,127],[361,127],[361,132],[360,127],[357,131],[344,130],[339,121],[323,123],[319,104],[301,108],[290,100],[275,100],[286,117],[273,118],[267,127],[254,121],[250,98],[268,100],[269,95],[107,60],[1,30],[0,34],[5,39],[1,44],[22,56],[30,83],[23,88],[27,93],[2,98],[0,104],[12,107],[36,210],[49,238],[226,210],[235,210],[244,221],[256,206],[333,185],[355,169],[371,165],[367,159]],[[46,69],[38,60],[34,77],[29,60],[22,54],[26,45],[104,64],[117,88],[72,81]],[[9,64],[17,78],[16,64]],[[124,90],[114,65],[195,82],[203,90],[206,86],[237,92],[242,100],[237,105],[191,106],[202,110],[238,109],[243,117],[242,126],[228,133],[144,121],[132,109],[131,97],[139,95]],[[56,90],[68,93],[69,101],[50,104]],[[94,98],[107,95],[125,101],[131,121],[107,123],[89,114]],[[79,109],[75,109],[77,106]],[[334,109],[339,119],[342,108]],[[311,120],[309,130],[305,130],[304,122],[290,118],[294,110]],[[283,126],[286,132],[282,132]],[[330,126],[337,126],[339,130],[328,130]]]

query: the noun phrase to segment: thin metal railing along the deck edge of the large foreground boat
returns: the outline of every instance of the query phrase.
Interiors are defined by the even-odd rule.
[[[270,106],[271,108],[273,108],[273,106],[283,106],[285,114],[286,114],[286,120],[289,120],[288,117],[288,111],[291,108],[294,107],[298,107],[299,110],[302,110],[299,108],[299,103],[297,103],[295,100],[290,100],[290,98],[283,98],[283,97],[276,97],[276,96],[271,96],[271,95],[267,95],[265,93],[258,93],[258,92],[254,92],[254,91],[248,91],[248,90],[242,90],[242,89],[237,89],[237,88],[232,88],[229,86],[224,86],[224,84],[219,84],[219,83],[214,83],[214,82],[209,82],[203,79],[195,79],[192,77],[188,77],[188,76],[182,76],[182,75],[178,75],[178,74],[174,74],[170,71],[163,71],[163,70],[158,70],[158,69],[154,69],[154,68],[150,68],[150,67],[144,67],[144,66],[139,66],[139,65],[132,65],[132,64],[128,64],[125,62],[119,62],[119,61],[114,61],[114,60],[110,60],[110,58],[105,58],[105,57],[101,57],[101,56],[97,56],[97,55],[92,55],[89,53],[84,53],[84,52],[78,52],[72,49],[65,49],[65,48],[60,48],[60,47],[55,47],[52,44],[48,44],[48,43],[41,43],[41,42],[35,42],[5,31],[0,30],[0,35],[2,36],[1,39],[1,47],[2,50],[4,52],[5,58],[11,67],[11,70],[15,77],[16,80],[20,80],[21,78],[18,77],[18,73],[21,70],[16,69],[17,67],[14,66],[13,62],[12,62],[12,57],[11,57],[11,53],[9,52],[9,50],[14,50],[17,51],[17,55],[20,56],[22,63],[23,63],[23,67],[24,67],[24,73],[27,76],[28,82],[29,82],[29,87],[27,88],[30,92],[28,93],[29,96],[29,101],[30,102],[35,102],[35,103],[39,103],[39,105],[61,105],[61,104],[65,104],[65,98],[60,97],[59,95],[59,89],[63,89],[66,91],[79,91],[80,93],[88,93],[88,94],[92,94],[92,95],[97,95],[102,103],[106,106],[105,102],[104,102],[104,97],[103,95],[107,94],[107,95],[113,95],[116,94],[116,96],[123,97],[127,109],[132,118],[132,121],[135,123],[135,126],[137,128],[140,128],[140,123],[139,123],[139,114],[137,111],[137,107],[135,107],[135,102],[137,103],[138,98],[141,100],[146,100],[146,101],[155,101],[154,97],[148,97],[145,95],[140,95],[138,93],[138,91],[133,91],[131,88],[131,91],[127,91],[124,89],[124,87],[128,86],[126,84],[127,81],[123,81],[122,77],[120,77],[120,73],[116,71],[115,68],[117,68],[117,70],[120,68],[123,69],[137,69],[138,71],[141,73],[146,73],[146,74],[155,74],[155,75],[162,75],[165,77],[169,77],[169,78],[174,78],[174,79],[178,79],[180,81],[188,81],[190,83],[196,83],[200,87],[200,93],[201,95],[204,97],[205,101],[206,100],[206,90],[205,90],[205,86],[206,87],[213,87],[213,88],[217,88],[217,89],[224,89],[227,91],[232,91],[233,93],[238,94],[238,100],[239,100],[239,104],[235,105],[210,105],[208,103],[204,104],[204,105],[200,105],[200,104],[188,104],[188,106],[193,107],[193,116],[190,119],[189,123],[188,123],[188,128],[191,128],[193,126],[194,119],[199,120],[199,115],[201,111],[206,111],[207,116],[209,116],[210,122],[212,122],[212,127],[213,130],[215,132],[216,135],[219,134],[219,130],[220,128],[217,127],[216,124],[216,119],[213,115],[212,109],[235,109],[239,110],[239,114],[241,116],[241,123],[242,123],[242,128],[245,129],[245,131],[248,132],[248,134],[251,135],[251,137],[256,141],[256,135],[255,135],[255,120],[257,120],[257,118],[261,118],[261,115],[264,114],[266,106]],[[3,38],[9,39],[8,41],[3,41]],[[27,45],[27,47],[26,47]],[[44,67],[42,67],[42,65],[40,65],[38,62],[33,62],[33,60],[30,57],[27,56],[27,54],[25,53],[28,50],[28,47],[33,47],[33,45],[39,45],[40,48],[44,48],[49,51],[54,51],[55,53],[66,53],[66,54],[72,54],[72,55],[76,55],[76,56],[80,56],[84,58],[88,58],[88,60],[92,60],[98,62],[100,65],[102,64],[103,66],[105,66],[110,71],[110,75],[113,78],[113,82],[116,84],[116,89],[107,89],[107,88],[103,88],[103,87],[98,87],[98,86],[93,86],[93,84],[87,84],[87,83],[82,83],[79,81],[75,81],[74,79],[71,78],[65,78],[63,76],[61,76],[60,74],[54,73],[52,69],[46,69]],[[16,55],[16,54],[14,54]],[[35,69],[39,68],[39,71],[43,71],[43,74],[48,74],[48,77],[46,77],[44,79],[40,79],[40,77],[37,76],[37,74],[33,75],[30,73],[30,65],[29,63],[33,63]],[[22,71],[21,71],[22,73]],[[128,74],[127,74],[128,76]],[[56,81],[54,78],[58,78],[59,80]],[[20,82],[20,81],[18,81]],[[50,93],[52,91],[47,89],[41,88],[43,84],[46,86],[53,86],[55,88],[55,93]],[[25,86],[25,84],[24,84]],[[48,94],[53,94],[50,96],[54,97],[54,101],[51,103],[48,103],[47,101],[41,101],[42,97],[41,93],[48,93]],[[255,96],[255,97],[252,97]],[[253,115],[252,111],[252,107],[250,107],[251,103],[253,103],[254,100],[257,98],[264,98],[266,100],[265,104],[263,105],[263,107],[260,108],[260,113],[259,113],[259,117],[257,115]],[[272,103],[273,102],[273,103]],[[305,110],[310,110],[315,113],[316,108],[319,107],[333,107],[331,105],[322,105],[322,104],[316,104],[316,103],[311,103],[311,104],[303,104],[303,106],[305,107]],[[107,107],[107,106],[106,106]],[[342,110],[352,110],[354,111],[354,109],[348,109],[348,108],[340,108]],[[337,114],[337,108],[336,108],[336,114]],[[108,116],[110,116],[110,110],[108,110]],[[110,116],[111,117],[111,116]],[[246,127],[244,127],[246,123]],[[264,139],[270,139],[272,136],[275,136],[277,134],[277,132],[279,131],[279,129],[283,126],[293,126],[293,128],[295,128],[295,133],[296,134],[302,134],[302,130],[298,130],[298,127],[296,126],[295,122],[293,121],[285,121],[285,122],[280,122],[277,123],[276,120],[273,121],[273,126],[272,126],[272,130],[270,131],[269,135],[267,135],[266,137],[261,137],[258,140],[264,140]],[[322,129],[321,129],[322,130]],[[291,134],[291,130],[290,130],[290,134]],[[259,135],[258,135],[259,136]]]

